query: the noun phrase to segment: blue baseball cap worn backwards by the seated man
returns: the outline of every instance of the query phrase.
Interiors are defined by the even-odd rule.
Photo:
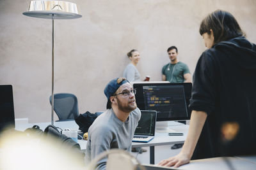
[[[111,102],[110,102],[109,98],[111,96],[113,96],[113,94],[115,94],[116,90],[124,83],[129,83],[129,81],[126,80],[126,78],[116,78],[116,79],[109,81],[108,85],[106,85],[106,87],[104,89],[104,94],[108,98],[107,109],[111,108]]]

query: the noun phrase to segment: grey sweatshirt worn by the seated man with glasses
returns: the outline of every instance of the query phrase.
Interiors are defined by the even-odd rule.
[[[132,137],[140,117],[138,108],[130,113],[126,122],[119,120],[112,109],[102,113],[88,130],[86,158],[90,161],[112,148],[131,152]],[[98,169],[106,169],[106,159],[98,162]]]

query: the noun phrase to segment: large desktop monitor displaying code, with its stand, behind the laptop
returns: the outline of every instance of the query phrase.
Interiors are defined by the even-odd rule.
[[[134,83],[136,103],[140,110],[156,110],[157,121],[189,120],[192,83]],[[164,129],[168,125],[157,125]]]

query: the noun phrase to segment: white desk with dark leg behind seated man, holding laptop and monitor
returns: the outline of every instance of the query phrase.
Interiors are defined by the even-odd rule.
[[[50,122],[43,122],[43,123],[33,123],[33,124],[22,124],[16,125],[15,129],[17,131],[25,131],[29,127],[33,127],[33,125],[38,125],[40,129],[44,131],[44,129],[51,125]],[[63,122],[54,122],[56,127],[60,127],[61,129],[71,129],[71,130],[78,130],[79,126],[76,124],[75,121],[63,121]],[[178,122],[170,122],[169,127],[177,132],[184,133],[183,136],[168,136],[168,133],[158,133],[156,132],[155,138],[148,143],[138,143],[132,142],[132,147],[143,147],[143,146],[150,146],[150,164],[154,164],[155,162],[155,146],[160,145],[172,145],[176,143],[184,143],[186,136],[188,134],[189,125],[180,124]],[[86,140],[78,140],[81,150],[86,150]]]

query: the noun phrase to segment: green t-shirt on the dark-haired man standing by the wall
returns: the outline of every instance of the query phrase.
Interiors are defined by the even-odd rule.
[[[190,73],[189,68],[183,62],[177,62],[176,64],[166,64],[163,66],[162,74],[166,76],[166,80],[171,83],[183,83],[184,74]]]

